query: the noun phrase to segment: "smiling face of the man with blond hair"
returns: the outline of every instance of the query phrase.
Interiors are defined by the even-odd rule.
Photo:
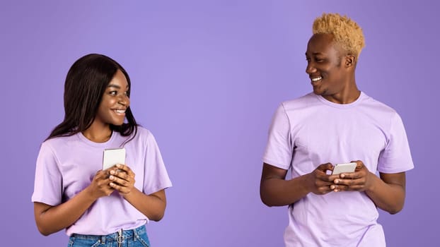
[[[307,44],[306,59],[306,73],[316,95],[337,95],[344,91],[349,83],[345,51],[333,42],[332,35],[313,35]]]

